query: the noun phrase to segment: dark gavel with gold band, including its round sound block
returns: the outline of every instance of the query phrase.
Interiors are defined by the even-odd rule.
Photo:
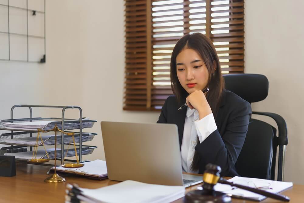
[[[221,184],[227,184],[230,186],[238,187],[250,192],[254,192],[257,194],[264,195],[269,198],[274,198],[277,200],[282,200],[282,201],[289,201],[290,199],[285,196],[285,195],[280,195],[280,194],[274,194],[271,192],[259,190],[257,188],[253,187],[248,187],[240,184],[234,184],[232,182],[228,182],[224,180],[223,178],[220,177],[219,173],[221,172],[221,167],[217,166],[215,164],[207,164],[206,165],[206,170],[204,172],[204,177],[203,177],[203,184],[202,188],[203,190],[193,190],[188,192],[185,195],[185,201],[186,202],[217,202],[217,203],[229,203],[231,202],[231,197],[226,195],[223,192],[215,191],[213,189],[214,185],[217,183]]]

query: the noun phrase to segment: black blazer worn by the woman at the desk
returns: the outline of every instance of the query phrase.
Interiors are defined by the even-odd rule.
[[[157,123],[172,123],[178,126],[181,148],[187,108],[178,110],[180,106],[175,95],[169,96],[161,109]],[[238,175],[234,164],[244,144],[250,116],[250,103],[225,90],[215,118],[217,130],[195,146],[195,150],[201,156],[199,173],[204,173],[206,164],[213,163],[222,168],[222,176]]]

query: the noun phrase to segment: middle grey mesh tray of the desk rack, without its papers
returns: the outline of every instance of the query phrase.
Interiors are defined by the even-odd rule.
[[[4,133],[0,135],[0,144],[4,145],[18,145],[18,146],[35,146],[35,145],[29,145],[29,144],[16,144],[16,143],[11,143],[11,142],[5,142],[5,140],[10,139],[11,137],[13,138],[27,138],[29,137],[30,133],[28,132],[17,132],[17,133]],[[37,136],[37,133],[32,133],[33,137]],[[82,133],[82,142],[88,142],[91,141],[94,136],[97,135],[97,133]],[[58,138],[59,136],[59,138]],[[61,144],[61,135],[57,136],[57,144]],[[42,136],[43,137],[43,136]],[[76,143],[79,143],[80,137],[79,133],[74,135],[74,140]],[[50,139],[47,139],[46,141],[43,142],[44,145],[55,145],[55,137],[51,137]],[[64,144],[69,144],[73,143],[72,136],[69,135],[64,135]],[[39,146],[41,146],[40,144]]]

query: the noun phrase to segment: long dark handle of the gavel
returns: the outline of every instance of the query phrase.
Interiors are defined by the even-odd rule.
[[[238,187],[238,188],[250,191],[250,192],[254,192],[254,193],[257,193],[257,194],[261,194],[261,195],[264,195],[266,197],[270,197],[270,198],[273,198],[273,199],[278,199],[278,200],[282,200],[282,201],[289,201],[290,200],[290,198],[285,196],[285,195],[274,194],[274,193],[267,192],[267,191],[264,191],[264,190],[259,190],[259,189],[253,188],[253,187],[247,187],[247,186],[244,186],[244,185],[234,184],[232,182],[228,182],[226,180],[223,180],[222,178],[219,179],[218,183],[235,186],[235,187]]]

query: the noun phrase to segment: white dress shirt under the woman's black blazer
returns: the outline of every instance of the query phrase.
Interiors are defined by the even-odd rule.
[[[199,112],[187,107],[183,141],[181,143],[181,165],[184,172],[199,172],[191,170],[197,137],[199,137],[199,142],[202,143],[216,129],[217,126],[212,113],[199,120]]]

